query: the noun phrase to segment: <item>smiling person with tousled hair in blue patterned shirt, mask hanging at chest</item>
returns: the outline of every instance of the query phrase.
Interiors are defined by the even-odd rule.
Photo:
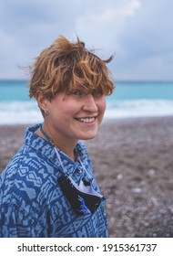
[[[103,60],[58,37],[31,69],[30,97],[44,122],[1,175],[0,237],[107,237],[105,197],[81,140],[97,135],[114,89]]]

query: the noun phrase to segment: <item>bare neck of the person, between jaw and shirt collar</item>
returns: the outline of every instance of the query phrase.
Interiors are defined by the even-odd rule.
[[[71,158],[73,161],[75,161],[75,153],[74,148],[76,146],[76,143],[68,142],[66,143],[65,140],[60,139],[58,135],[53,136],[52,133],[49,132],[49,130],[46,128],[46,125],[43,123],[43,125],[40,126],[40,129],[37,131],[37,134],[46,139],[49,143],[59,148],[61,151],[63,151],[69,158]],[[55,137],[55,139],[54,139]]]

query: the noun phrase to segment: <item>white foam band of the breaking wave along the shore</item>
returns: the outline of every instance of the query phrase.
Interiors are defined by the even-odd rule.
[[[173,115],[173,101],[108,101],[105,118]],[[40,123],[43,117],[36,101],[0,102],[0,124]]]

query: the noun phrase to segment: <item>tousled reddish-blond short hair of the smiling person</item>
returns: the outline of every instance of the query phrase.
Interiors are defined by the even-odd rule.
[[[41,91],[51,101],[58,92],[67,92],[70,84],[73,89],[81,86],[86,91],[109,95],[115,86],[106,64],[112,59],[112,56],[107,60],[98,58],[78,37],[72,43],[59,36],[36,58],[31,69],[29,96],[36,98],[36,92]]]

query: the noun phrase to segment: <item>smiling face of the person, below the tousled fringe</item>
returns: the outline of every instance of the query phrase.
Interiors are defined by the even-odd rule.
[[[46,104],[49,131],[66,143],[94,138],[106,110],[105,96],[79,90],[59,93]]]

